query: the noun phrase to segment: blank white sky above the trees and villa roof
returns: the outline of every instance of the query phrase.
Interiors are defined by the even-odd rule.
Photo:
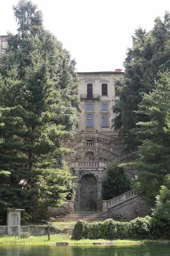
[[[170,0],[32,1],[43,12],[46,29],[62,41],[82,72],[123,68],[134,30],[152,29],[155,17],[170,11]],[[12,6],[17,2],[0,0],[0,35],[16,32]]]

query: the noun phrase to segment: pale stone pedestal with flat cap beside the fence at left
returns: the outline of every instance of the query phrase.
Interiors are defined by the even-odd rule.
[[[7,209],[8,235],[20,234],[20,216],[25,209]]]

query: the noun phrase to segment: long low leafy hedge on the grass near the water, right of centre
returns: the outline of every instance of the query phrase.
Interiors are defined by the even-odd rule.
[[[108,219],[103,222],[88,223],[80,220],[75,224],[72,239],[157,239],[158,232],[153,223],[153,218],[150,216],[138,217],[130,222]]]

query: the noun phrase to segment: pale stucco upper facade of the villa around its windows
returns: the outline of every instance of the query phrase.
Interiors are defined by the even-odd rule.
[[[112,132],[112,106],[115,104],[115,79],[120,79],[122,72],[83,72],[78,73],[78,95],[81,98],[81,117],[76,131]],[[87,99],[87,86],[92,84],[93,99]],[[107,84],[107,95],[102,95],[102,84]],[[88,110],[88,104],[93,105]],[[102,109],[102,104],[107,104],[108,109]],[[93,125],[87,126],[87,115],[93,115]],[[102,114],[108,114],[108,125],[102,125]]]

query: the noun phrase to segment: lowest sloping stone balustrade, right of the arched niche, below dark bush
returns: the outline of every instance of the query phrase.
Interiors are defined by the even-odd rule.
[[[102,211],[103,212],[108,212],[109,211],[109,208],[117,205],[117,204],[120,204],[124,201],[127,201],[129,200],[130,198],[133,198],[137,196],[137,189],[131,189],[130,191],[127,191],[121,195],[118,195],[114,198],[111,198],[109,200],[103,200],[102,203],[103,203],[103,209]]]

